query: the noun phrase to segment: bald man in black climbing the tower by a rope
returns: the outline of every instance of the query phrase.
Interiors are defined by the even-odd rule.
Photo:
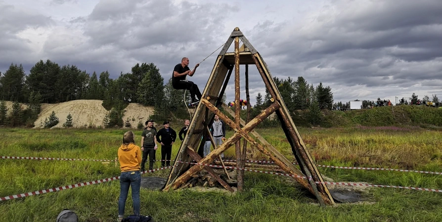
[[[195,83],[186,80],[186,75],[192,76],[200,64],[196,64],[195,69],[192,71],[190,71],[188,65],[189,59],[184,57],[181,59],[181,63],[175,66],[174,73],[172,74],[172,85],[175,89],[189,90],[193,105],[197,104],[201,99],[201,92]]]

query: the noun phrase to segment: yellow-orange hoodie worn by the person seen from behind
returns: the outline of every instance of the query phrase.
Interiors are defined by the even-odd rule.
[[[141,149],[134,144],[122,144],[118,148],[118,160],[121,172],[140,170]]]

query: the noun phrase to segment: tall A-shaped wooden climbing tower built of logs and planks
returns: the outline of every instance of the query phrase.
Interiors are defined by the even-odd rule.
[[[241,40],[244,44],[241,48],[239,47],[239,40]],[[232,42],[235,42],[235,52],[227,52]],[[239,113],[241,108],[239,105],[236,106],[235,113],[227,108],[225,110],[230,111],[230,114],[235,117],[234,120],[231,120],[219,110],[220,107],[226,108],[226,105],[221,102],[222,96],[224,95],[230,75],[234,69],[235,104],[239,104],[239,65],[246,65],[247,79],[248,65],[252,64],[255,64],[258,68],[258,71],[264,80],[265,87],[272,97],[270,99],[272,104],[248,123],[240,119]],[[287,158],[285,158],[272,145],[265,141],[263,137],[253,130],[273,112],[276,112],[281,122],[281,127],[292,147],[293,154],[300,165],[301,171],[298,170],[289,160],[287,160]],[[202,158],[198,154],[198,151],[201,152],[205,141],[201,141],[201,138],[202,136],[205,137],[206,135],[210,135],[208,134],[208,124],[213,120],[215,113],[218,114],[220,119],[222,119],[225,124],[229,125],[235,131],[235,133],[221,146],[215,147],[215,150],[213,150],[206,157]],[[240,125],[243,125],[243,128],[241,128]],[[258,143],[249,134],[257,138],[260,143]],[[292,175],[297,182],[316,196],[321,206],[332,205],[334,203],[327,186],[323,183],[322,177],[319,174],[319,171],[317,170],[315,163],[313,162],[313,159],[311,158],[295,124],[293,123],[292,118],[290,117],[289,111],[282,100],[267,65],[258,51],[250,44],[239,28],[235,28],[218,55],[215,66],[209,80],[207,81],[204,92],[202,93],[200,103],[191,119],[187,135],[177,153],[174,168],[171,170],[164,190],[179,188],[189,179],[191,179],[192,175],[198,171],[201,171],[202,169],[205,169],[227,190],[233,191],[233,189],[218,175],[216,175],[216,173],[210,167],[190,164],[190,162],[195,160],[199,164],[211,164],[215,158],[234,144],[236,146],[237,159],[241,160],[239,148],[241,138],[258,148],[287,174]],[[243,159],[245,159],[244,156],[245,155],[242,157]],[[239,169],[243,169],[240,168],[241,165],[237,166],[239,166]],[[238,178],[238,186],[239,183],[240,179]]]

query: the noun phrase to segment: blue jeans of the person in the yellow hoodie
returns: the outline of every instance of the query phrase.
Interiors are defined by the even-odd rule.
[[[139,215],[139,187],[141,186],[141,174],[139,173],[139,171],[128,171],[121,172],[120,176],[120,199],[118,200],[118,216],[124,215],[129,186],[132,187],[133,214]]]

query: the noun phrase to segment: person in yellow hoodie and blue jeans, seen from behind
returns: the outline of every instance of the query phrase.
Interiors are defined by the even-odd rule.
[[[129,186],[132,187],[133,214],[139,215],[140,201],[139,188],[141,174],[141,149],[135,145],[133,132],[128,131],[123,136],[123,144],[118,148],[118,161],[120,161],[120,199],[118,200],[118,220],[122,221],[126,199],[128,198]]]

